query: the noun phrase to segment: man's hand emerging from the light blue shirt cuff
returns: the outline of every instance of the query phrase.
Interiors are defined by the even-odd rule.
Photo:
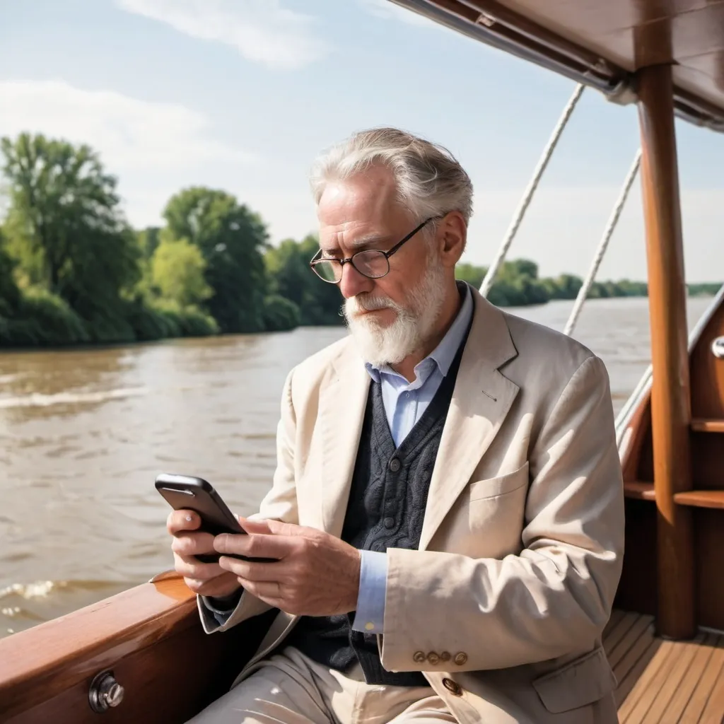
[[[357,607],[360,552],[328,533],[279,521],[239,518],[248,535],[222,534],[219,553],[274,558],[253,563],[222,555],[219,565],[245,591],[292,615],[328,616]]]

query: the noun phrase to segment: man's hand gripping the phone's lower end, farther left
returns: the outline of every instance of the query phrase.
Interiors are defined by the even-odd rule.
[[[214,598],[230,596],[240,587],[236,576],[224,571],[217,563],[201,563],[194,557],[214,552],[214,536],[193,532],[200,525],[201,518],[193,510],[174,510],[169,515],[166,527],[174,536],[171,544],[174,568],[193,592]]]

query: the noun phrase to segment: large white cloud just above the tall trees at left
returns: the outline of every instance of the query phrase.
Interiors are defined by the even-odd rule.
[[[0,135],[22,131],[88,143],[112,173],[253,160],[213,140],[209,120],[198,111],[110,90],[82,90],[62,80],[0,81]]]

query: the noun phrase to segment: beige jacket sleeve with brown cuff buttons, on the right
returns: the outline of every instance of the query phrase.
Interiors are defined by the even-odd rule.
[[[518,555],[387,550],[378,638],[384,668],[434,670],[420,652],[450,652],[445,670],[462,671],[594,647],[613,607],[624,534],[613,408],[599,358],[586,358],[571,376],[529,463]]]

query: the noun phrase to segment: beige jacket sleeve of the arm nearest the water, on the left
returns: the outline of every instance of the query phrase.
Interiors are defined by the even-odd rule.
[[[277,468],[274,471],[274,482],[261,501],[259,512],[249,516],[251,520],[298,523],[294,467],[296,417],[292,404],[293,374],[294,370],[287,376],[282,392],[282,412],[277,425]],[[206,633],[226,631],[237,623],[269,610],[269,605],[246,591],[241,594],[239,602],[231,612],[214,610],[204,597],[197,596],[196,600]]]

